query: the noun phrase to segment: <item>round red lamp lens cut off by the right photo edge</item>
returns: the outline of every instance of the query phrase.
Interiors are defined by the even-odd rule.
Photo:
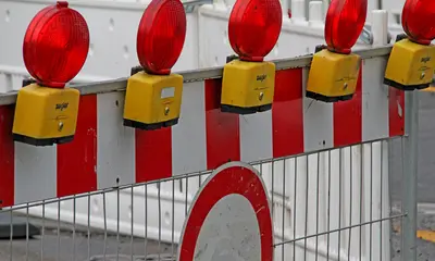
[[[407,0],[401,25],[412,41],[430,45],[435,39],[435,1]]]

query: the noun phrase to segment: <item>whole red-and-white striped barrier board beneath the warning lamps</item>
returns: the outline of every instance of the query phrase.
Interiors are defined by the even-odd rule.
[[[152,132],[124,127],[125,92],[95,84],[82,89],[74,141],[51,147],[14,142],[15,94],[0,97],[1,207],[403,135],[405,95],[383,85],[389,50],[361,51],[357,92],[338,103],[304,97],[309,57],[278,61],[273,108],[251,115],[221,112],[222,79],[189,72],[179,123]]]

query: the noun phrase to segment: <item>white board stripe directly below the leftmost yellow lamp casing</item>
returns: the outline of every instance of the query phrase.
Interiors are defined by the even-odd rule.
[[[57,197],[57,151],[15,142],[15,204]]]

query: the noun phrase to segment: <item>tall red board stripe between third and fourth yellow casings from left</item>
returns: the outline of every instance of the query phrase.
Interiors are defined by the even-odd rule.
[[[272,105],[273,157],[303,152],[302,69],[277,71]]]

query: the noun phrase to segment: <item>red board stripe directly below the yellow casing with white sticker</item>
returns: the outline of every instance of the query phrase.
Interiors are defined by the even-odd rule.
[[[136,182],[172,176],[172,128],[136,129]]]

